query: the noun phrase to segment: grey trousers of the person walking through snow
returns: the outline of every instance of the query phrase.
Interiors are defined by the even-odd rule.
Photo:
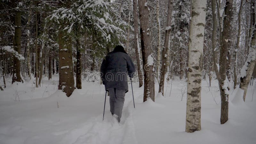
[[[109,88],[109,104],[110,112],[118,116],[120,121],[122,116],[122,110],[124,106],[125,90],[120,88]]]

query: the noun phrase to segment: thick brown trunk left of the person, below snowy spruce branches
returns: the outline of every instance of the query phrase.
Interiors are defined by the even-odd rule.
[[[62,31],[59,31],[59,60],[60,73],[58,89],[65,92],[69,97],[75,89],[72,60],[72,39]]]

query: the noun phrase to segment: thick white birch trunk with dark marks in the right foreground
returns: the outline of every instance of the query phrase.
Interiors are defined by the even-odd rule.
[[[186,132],[201,130],[201,79],[206,0],[194,0],[191,8],[192,15],[188,42]]]

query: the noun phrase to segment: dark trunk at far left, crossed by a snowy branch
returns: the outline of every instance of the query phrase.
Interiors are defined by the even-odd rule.
[[[15,20],[14,20],[15,28],[14,28],[14,50],[20,54],[21,49],[21,12],[16,11]],[[13,76],[12,76],[12,84],[14,82],[21,82],[20,77],[20,60],[14,56],[13,58]]]

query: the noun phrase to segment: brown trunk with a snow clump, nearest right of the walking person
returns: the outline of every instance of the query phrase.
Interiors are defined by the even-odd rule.
[[[154,84],[154,60],[150,44],[149,16],[147,0],[139,0],[140,13],[140,43],[142,51],[142,61],[144,70],[144,97],[143,102],[148,98],[155,101],[155,84]]]

